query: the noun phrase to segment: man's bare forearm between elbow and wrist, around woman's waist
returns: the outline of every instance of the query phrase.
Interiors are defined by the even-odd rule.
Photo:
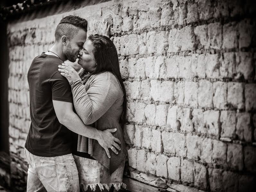
[[[101,138],[101,131],[96,128],[85,125],[83,121],[75,113],[66,114],[60,122],[66,126],[70,131],[75,132],[84,137],[99,140]]]

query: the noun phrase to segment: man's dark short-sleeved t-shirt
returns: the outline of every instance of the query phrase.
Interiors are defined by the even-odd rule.
[[[36,156],[71,153],[71,131],[59,123],[52,102],[73,102],[71,87],[58,71],[61,64],[58,57],[42,53],[28,71],[31,125],[25,148]]]

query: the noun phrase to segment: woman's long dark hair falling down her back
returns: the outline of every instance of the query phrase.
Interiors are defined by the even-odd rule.
[[[116,78],[119,81],[119,84],[123,90],[124,94],[124,102],[123,102],[123,113],[120,119],[120,123],[122,123],[122,126],[125,124],[126,121],[126,91],[124,88],[123,80],[121,77],[120,73],[120,68],[119,68],[119,60],[118,60],[118,54],[115,45],[113,42],[106,36],[102,35],[90,35],[88,39],[92,42],[93,44],[93,55],[94,58],[97,62],[96,69],[88,74],[87,71],[81,71],[79,74],[81,79],[85,76],[83,83],[89,79],[90,76],[99,74],[105,71],[110,71],[113,73]]]

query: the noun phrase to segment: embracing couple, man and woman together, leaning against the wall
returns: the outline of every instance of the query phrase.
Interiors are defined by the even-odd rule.
[[[117,50],[108,37],[96,34],[86,40],[86,33],[85,19],[63,18],[55,44],[29,68],[27,192],[114,191],[125,186],[126,92]],[[64,63],[77,58],[82,67],[78,73]]]

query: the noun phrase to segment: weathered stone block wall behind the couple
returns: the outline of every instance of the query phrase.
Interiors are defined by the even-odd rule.
[[[255,6],[235,0],[110,1],[9,23],[9,140],[16,185],[27,171],[27,71],[69,14],[88,20],[88,35],[100,33],[103,19],[111,23],[128,97],[124,129],[131,178],[167,184],[169,191],[255,187]]]

